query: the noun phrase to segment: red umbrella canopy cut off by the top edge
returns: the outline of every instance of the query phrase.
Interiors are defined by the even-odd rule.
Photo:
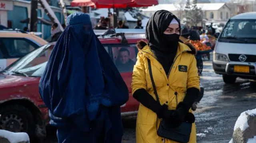
[[[73,0],[70,6],[92,6],[96,8],[127,8],[158,5],[158,0]]]

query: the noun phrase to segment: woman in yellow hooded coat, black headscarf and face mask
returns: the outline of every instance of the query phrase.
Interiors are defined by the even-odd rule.
[[[156,124],[159,125],[160,118],[170,121],[173,127],[185,121],[192,123],[188,143],[196,143],[195,117],[190,109],[200,92],[196,50],[183,44],[179,37],[178,18],[160,10],[146,25],[148,43],[137,44],[139,53],[132,75],[132,94],[140,102],[136,143],[177,143],[157,135]],[[160,103],[154,94],[148,59]]]

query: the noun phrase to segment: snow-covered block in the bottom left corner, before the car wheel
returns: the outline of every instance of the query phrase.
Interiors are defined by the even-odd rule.
[[[0,136],[8,139],[10,143],[29,142],[27,133],[13,133],[6,130],[0,130]]]

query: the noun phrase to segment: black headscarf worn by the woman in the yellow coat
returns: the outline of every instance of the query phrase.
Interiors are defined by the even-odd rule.
[[[166,45],[162,41],[162,35],[174,18],[178,21],[180,27],[180,20],[174,16],[174,14],[167,10],[158,10],[148,20],[146,25],[146,39],[148,40],[148,45],[157,60],[163,66],[166,75],[168,75],[174,61],[178,49],[178,41]]]

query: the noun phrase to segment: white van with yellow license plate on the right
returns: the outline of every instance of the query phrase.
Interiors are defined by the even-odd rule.
[[[228,20],[216,41],[212,65],[227,84],[237,77],[256,79],[256,12]]]

